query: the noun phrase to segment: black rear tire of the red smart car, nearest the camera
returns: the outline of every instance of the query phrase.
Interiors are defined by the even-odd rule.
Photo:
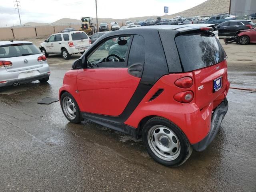
[[[176,148],[176,151],[174,151],[174,153],[176,152],[176,154],[173,155],[174,159],[171,159],[172,156],[168,156],[170,154],[168,154],[168,153],[163,154],[162,152],[160,152],[160,149],[157,146],[155,146],[156,148],[154,150],[153,145],[154,145],[156,138],[154,138],[153,135],[150,136],[150,132],[151,132],[151,130],[154,130],[153,133],[157,134],[159,132],[159,131],[157,132],[158,128],[162,128],[164,131],[167,130],[169,132],[168,133],[166,131],[168,134],[171,133],[171,135],[170,135],[172,138],[171,141],[170,141],[170,139],[168,139],[168,141],[165,140],[165,142],[167,142],[166,145],[168,145],[168,148],[170,148],[172,146],[171,143],[174,143],[176,141],[176,145],[178,146],[178,148]],[[174,139],[173,139],[172,134],[174,134]],[[162,135],[159,138],[161,138],[161,137],[163,138]],[[176,166],[182,165],[190,157],[192,150],[193,150],[188,139],[186,138],[185,134],[180,130],[180,128],[173,122],[171,122],[165,118],[161,118],[161,117],[154,117],[146,122],[146,124],[143,126],[143,129],[142,129],[142,140],[143,140],[144,145],[147,148],[148,154],[156,162],[163,164],[165,166],[169,166],[169,167],[176,167]],[[158,141],[158,139],[157,139],[157,141]],[[153,143],[153,144],[151,144],[151,143]],[[164,144],[162,144],[162,139],[160,139],[159,144],[162,145],[163,149],[165,149],[166,146]],[[152,150],[152,147],[153,147],[153,150]],[[166,149],[168,149],[168,148],[166,147]],[[172,149],[172,152],[173,152],[173,150],[174,150],[174,148]],[[159,157],[159,156],[161,156],[161,153],[163,154],[162,158]],[[164,160],[164,158],[165,158],[164,156],[167,156],[167,158],[170,157],[170,160]]]

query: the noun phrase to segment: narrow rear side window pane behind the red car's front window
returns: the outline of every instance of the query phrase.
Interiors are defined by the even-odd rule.
[[[128,67],[132,64],[141,64],[144,65],[145,61],[145,40],[142,36],[134,35],[132,40],[129,58],[128,58]]]

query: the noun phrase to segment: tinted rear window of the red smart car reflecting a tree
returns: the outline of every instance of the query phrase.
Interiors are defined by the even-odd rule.
[[[184,71],[192,71],[222,62],[226,53],[214,36],[186,34],[175,38]]]

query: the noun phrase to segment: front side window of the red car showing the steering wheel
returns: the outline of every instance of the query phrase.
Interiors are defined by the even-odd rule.
[[[126,67],[126,54],[131,36],[105,40],[87,58],[88,68]]]

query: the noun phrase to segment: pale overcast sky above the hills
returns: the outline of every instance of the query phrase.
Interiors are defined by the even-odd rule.
[[[95,0],[19,0],[20,18],[26,22],[52,23],[61,18],[96,18]],[[98,18],[130,18],[174,14],[206,0],[97,0]],[[0,0],[0,27],[19,25],[18,10],[13,0]]]

